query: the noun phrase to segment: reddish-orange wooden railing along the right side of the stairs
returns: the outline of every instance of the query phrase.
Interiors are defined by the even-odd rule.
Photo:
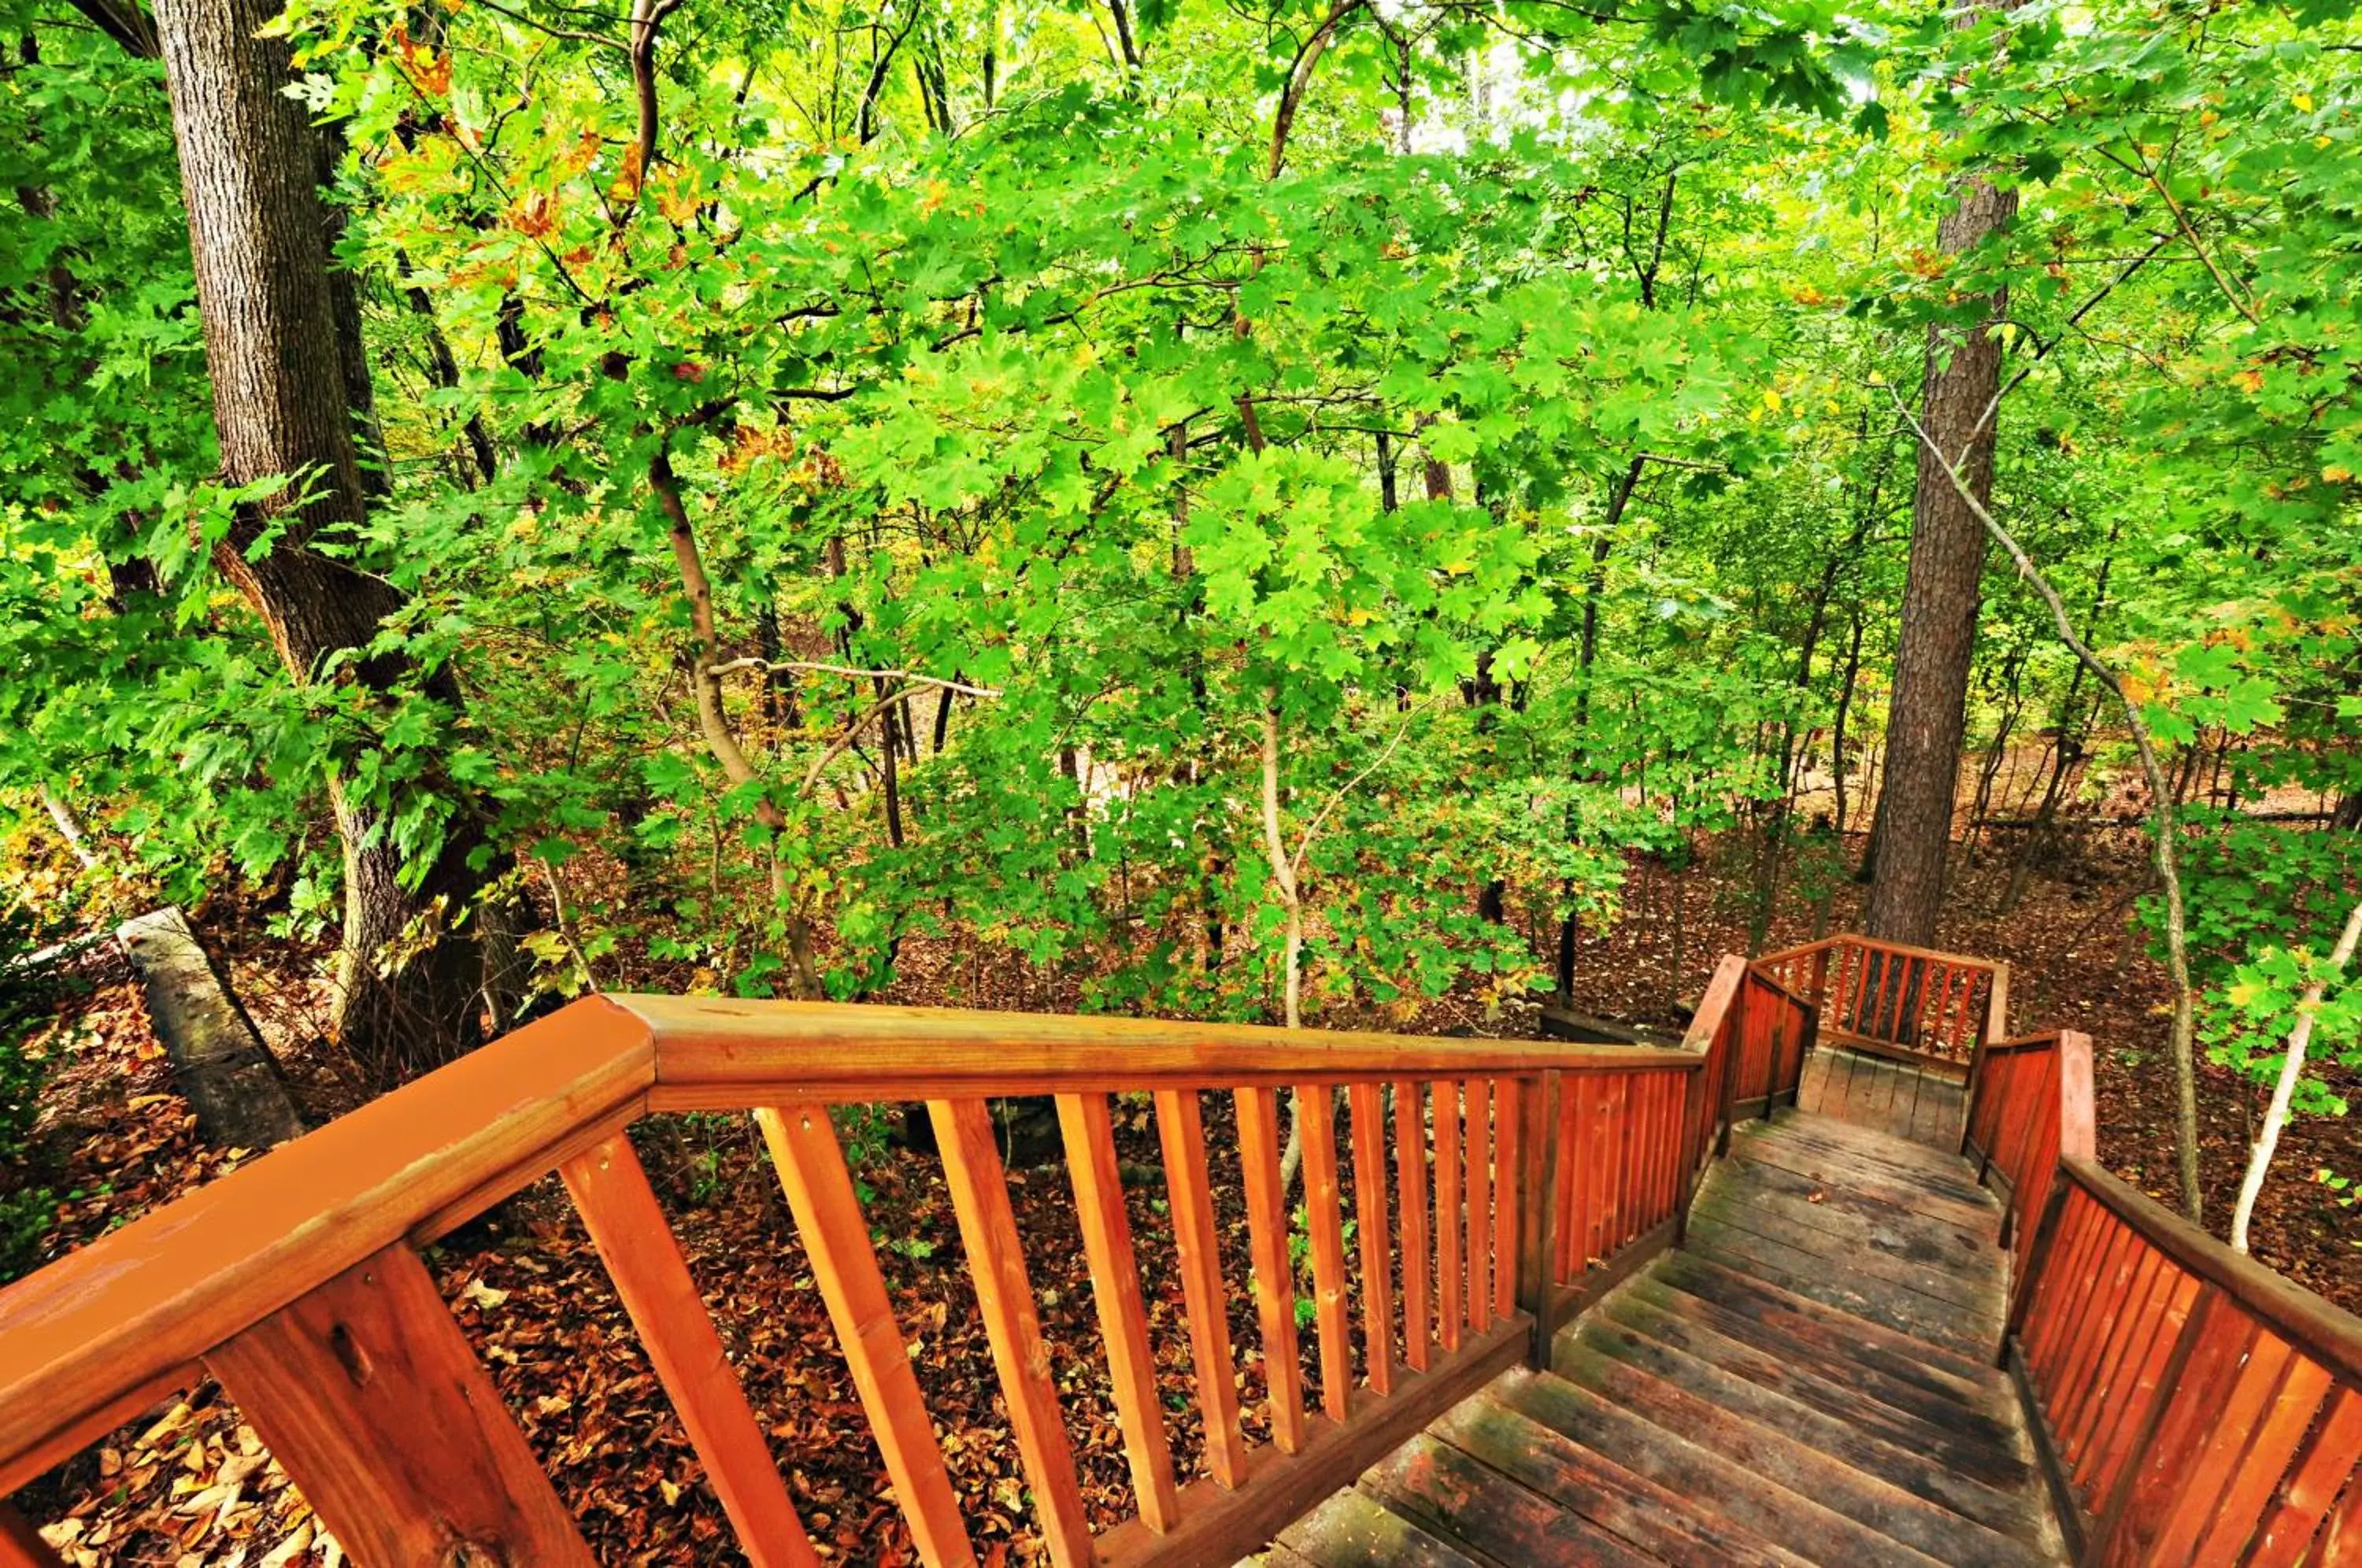
[[[1989,1044],[1970,1093],[2020,1221],[2003,1365],[2076,1561],[2362,1561],[2362,1320],[2097,1164],[2086,1037]]]

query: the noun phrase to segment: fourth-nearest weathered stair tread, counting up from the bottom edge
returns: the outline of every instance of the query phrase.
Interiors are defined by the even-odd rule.
[[[1937,1561],[1564,1377],[1521,1372],[1493,1389],[1512,1410],[1805,1561],[1831,1568],[1927,1568]]]

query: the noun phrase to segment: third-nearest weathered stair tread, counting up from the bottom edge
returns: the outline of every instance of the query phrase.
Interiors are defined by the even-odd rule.
[[[1715,1511],[1710,1502],[1637,1476],[1490,1391],[1429,1426],[1512,1481],[1547,1495],[1672,1568],[1805,1568],[1807,1559]]]

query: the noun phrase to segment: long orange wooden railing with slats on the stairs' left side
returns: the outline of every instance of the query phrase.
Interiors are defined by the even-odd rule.
[[[1051,1559],[1226,1563],[1502,1367],[1547,1355],[1559,1322],[1663,1249],[1731,1119],[1793,1098],[1812,1015],[1738,959],[1724,961],[1682,1051],[576,1001],[0,1294],[0,1495],[210,1374],[371,1568],[590,1561],[418,1259],[420,1244],[557,1171],[739,1547],[753,1563],[817,1561],[626,1138],[650,1112],[751,1110],[912,1542],[926,1563],[973,1563],[829,1115],[924,1100]],[[1304,1126],[1318,1415],[1304,1410],[1297,1346],[1283,1089]],[[1039,1093],[1058,1105],[1136,1495],[1136,1516],[1096,1537],[987,1110],[994,1096]],[[1174,1474],[1150,1358],[1110,1129],[1117,1093],[1153,1096],[1164,1157],[1207,1436],[1209,1478],[1190,1485]],[[1257,1448],[1242,1438],[1224,1313],[1233,1282],[1207,1185],[1207,1093],[1231,1096],[1238,1122],[1271,1405],[1271,1443]],[[0,1563],[50,1561],[0,1504]]]

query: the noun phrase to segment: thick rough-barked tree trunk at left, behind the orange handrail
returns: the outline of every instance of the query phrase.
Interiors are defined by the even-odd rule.
[[[413,678],[399,656],[331,668],[335,654],[376,638],[402,609],[402,593],[312,548],[321,529],[366,515],[371,479],[354,430],[368,418],[359,406],[368,368],[352,290],[331,267],[321,135],[286,92],[288,47],[260,35],[276,9],[269,0],[156,7],[222,479],[293,477],[239,515],[215,560],[295,680],[390,692]],[[248,560],[269,529],[283,531]],[[425,690],[461,704],[449,671],[430,675]],[[399,850],[371,843],[373,808],[340,782],[331,796],[345,843],[338,1039],[368,1079],[390,1084],[482,1039],[482,912],[470,904],[484,876],[468,864],[482,836],[461,810],[442,855],[409,888]]]

